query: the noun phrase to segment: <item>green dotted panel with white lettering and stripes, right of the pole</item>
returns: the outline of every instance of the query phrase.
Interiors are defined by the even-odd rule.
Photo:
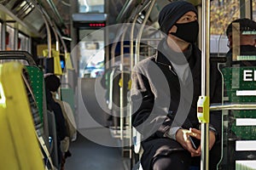
[[[249,78],[252,81],[243,80],[243,71],[250,70],[252,73]],[[237,90],[256,90],[256,81],[254,81],[254,71],[255,67],[226,67],[222,69],[224,75],[225,91],[229,97],[229,101],[233,103],[248,103],[255,102],[256,96],[237,96]],[[247,77],[248,78],[248,77]],[[238,138],[241,139],[256,139],[256,127],[255,126],[242,126],[236,127],[236,118],[256,118],[255,110],[245,110],[245,111],[231,111],[231,117],[233,117],[231,122],[231,130],[236,134]]]

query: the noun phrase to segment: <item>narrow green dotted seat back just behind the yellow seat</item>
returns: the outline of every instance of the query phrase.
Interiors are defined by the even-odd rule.
[[[44,73],[37,66],[26,65],[26,70],[29,74],[32,91],[38,104],[38,110],[41,121],[44,120],[43,99],[44,99]]]

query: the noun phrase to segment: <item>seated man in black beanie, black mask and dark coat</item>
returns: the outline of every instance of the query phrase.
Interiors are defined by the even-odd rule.
[[[194,148],[190,140],[201,139],[196,116],[201,95],[197,11],[191,3],[169,3],[160,11],[159,24],[166,37],[157,54],[138,63],[132,72],[132,125],[143,134],[141,163],[144,170],[200,167],[201,147]],[[210,100],[219,103],[221,78],[216,67],[211,76]],[[216,169],[219,161],[220,124],[221,114],[212,114],[210,169]]]

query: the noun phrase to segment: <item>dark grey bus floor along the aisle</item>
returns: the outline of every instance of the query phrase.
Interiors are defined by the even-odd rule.
[[[106,139],[108,136],[99,138]],[[72,156],[67,157],[65,170],[127,170],[127,158],[121,156],[117,147],[104,146],[86,139],[81,133],[70,144]],[[126,160],[125,160],[126,159]]]

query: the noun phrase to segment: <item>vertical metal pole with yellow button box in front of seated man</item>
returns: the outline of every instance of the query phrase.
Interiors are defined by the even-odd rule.
[[[207,98],[210,68],[210,0],[202,1],[201,96]],[[209,102],[206,105],[209,108]],[[202,111],[207,119],[201,120],[201,170],[209,169],[209,110]],[[199,116],[199,115],[198,115]],[[200,119],[200,118],[199,118]]]

